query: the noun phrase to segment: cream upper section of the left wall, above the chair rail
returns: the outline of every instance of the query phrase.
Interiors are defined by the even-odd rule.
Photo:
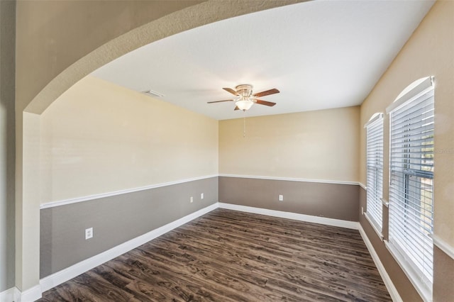
[[[218,121],[95,77],[40,129],[41,203],[218,174]]]

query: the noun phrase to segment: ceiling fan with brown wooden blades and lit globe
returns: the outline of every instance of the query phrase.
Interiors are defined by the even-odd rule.
[[[257,94],[253,94],[253,85],[250,84],[241,84],[235,87],[235,89],[231,88],[223,88],[225,91],[230,92],[234,96],[237,96],[236,99],[230,99],[230,100],[222,100],[222,101],[209,101],[208,104],[213,104],[213,103],[220,103],[223,101],[234,101],[235,102],[235,110],[249,110],[250,107],[253,106],[253,104],[260,104],[260,105],[265,105],[265,106],[275,106],[276,103],[273,103],[271,101],[262,101],[257,98],[260,98],[261,96],[268,96],[270,94],[279,94],[279,90],[273,88],[270,90],[258,92]]]

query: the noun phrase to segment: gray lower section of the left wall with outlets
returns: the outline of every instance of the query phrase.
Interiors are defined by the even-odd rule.
[[[40,278],[217,201],[218,177],[212,177],[44,208],[40,211]],[[85,229],[91,227],[94,237],[85,240]]]

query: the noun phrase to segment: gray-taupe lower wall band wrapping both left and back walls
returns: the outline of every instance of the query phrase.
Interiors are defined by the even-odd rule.
[[[217,201],[358,221],[359,186],[212,177],[43,208],[40,278],[116,247]],[[204,193],[204,199],[200,194]],[[284,201],[278,201],[278,195]],[[194,202],[190,203],[190,197]],[[85,229],[94,237],[85,240]]]

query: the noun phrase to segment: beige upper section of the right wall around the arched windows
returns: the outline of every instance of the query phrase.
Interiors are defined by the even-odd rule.
[[[434,233],[454,247],[454,1],[437,1],[361,106],[361,125],[385,112],[416,79],[435,77]],[[389,150],[385,117],[384,147]],[[360,181],[365,184],[365,130],[361,130]],[[384,198],[389,154],[384,152]]]

